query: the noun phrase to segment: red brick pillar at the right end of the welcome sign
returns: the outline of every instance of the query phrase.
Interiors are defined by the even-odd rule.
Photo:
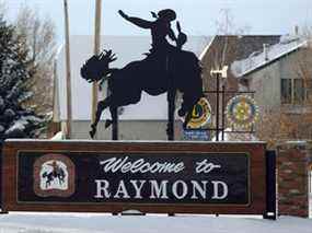
[[[278,147],[278,214],[309,218],[307,142]]]

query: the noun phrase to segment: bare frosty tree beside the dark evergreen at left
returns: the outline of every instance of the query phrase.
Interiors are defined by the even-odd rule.
[[[18,35],[28,48],[28,63],[33,68],[34,92],[30,105],[36,105],[38,113],[51,110],[53,63],[56,55],[55,24],[49,18],[41,19],[38,13],[25,5],[15,21]]]

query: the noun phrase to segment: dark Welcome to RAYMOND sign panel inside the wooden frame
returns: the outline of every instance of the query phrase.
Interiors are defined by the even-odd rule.
[[[246,153],[19,152],[20,202],[249,205]]]

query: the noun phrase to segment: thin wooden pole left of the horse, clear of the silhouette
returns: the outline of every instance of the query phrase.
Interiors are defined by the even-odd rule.
[[[69,19],[68,19],[68,2],[63,0],[63,11],[65,11],[65,48],[66,48],[66,89],[67,89],[67,129],[66,138],[71,138],[71,78],[70,78],[70,44],[69,44]]]

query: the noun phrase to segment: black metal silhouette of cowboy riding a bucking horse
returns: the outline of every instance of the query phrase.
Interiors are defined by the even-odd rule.
[[[176,92],[182,93],[182,104],[178,116],[184,117],[184,126],[190,119],[194,105],[203,96],[201,68],[194,53],[183,50],[187,40],[186,34],[176,22],[178,35],[175,36],[171,23],[176,13],[171,9],[151,12],[153,21],[128,16],[118,11],[126,21],[151,31],[152,44],[143,60],[132,61],[124,68],[109,68],[116,60],[112,50],[104,50],[92,56],[81,68],[81,77],[89,82],[108,82],[109,95],[97,104],[95,121],[91,125],[90,136],[96,132],[102,112],[108,107],[112,118],[117,117],[116,107],[136,104],[141,98],[142,91],[150,95],[167,92],[167,100],[174,101]],[[167,37],[175,43],[169,43]],[[112,120],[106,120],[107,128]]]

